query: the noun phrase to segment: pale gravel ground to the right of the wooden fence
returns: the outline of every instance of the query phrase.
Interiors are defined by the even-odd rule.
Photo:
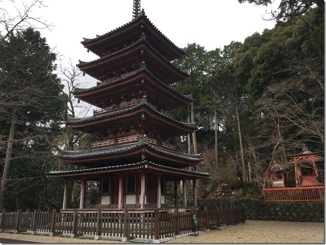
[[[245,224],[184,236],[171,243],[324,243],[324,224],[246,220]]]

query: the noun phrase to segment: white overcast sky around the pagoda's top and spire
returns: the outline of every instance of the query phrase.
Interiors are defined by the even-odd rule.
[[[141,0],[141,8],[151,22],[180,48],[197,43],[206,50],[223,49],[232,40],[243,40],[255,31],[274,27],[265,11],[278,6],[263,7],[239,4],[237,0]],[[39,8],[42,16],[54,27],[42,30],[50,47],[56,47],[63,61],[71,58],[91,61],[97,58],[80,42],[83,37],[94,38],[132,20],[133,0],[43,1],[47,8]]]

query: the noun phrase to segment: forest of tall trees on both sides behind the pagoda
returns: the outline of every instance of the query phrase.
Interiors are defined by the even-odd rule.
[[[71,93],[81,72],[71,63],[57,66],[46,38],[33,29],[40,20],[31,10],[42,6],[35,1],[10,18],[0,8],[0,212],[60,209],[64,181],[46,173],[75,167],[56,155],[99,140],[64,127],[76,109],[90,107]],[[255,191],[259,198],[264,168],[273,162],[287,166],[287,155],[304,147],[324,153],[324,3],[282,0],[270,18],[276,19],[273,29],[253,33],[243,44],[212,51],[188,44],[175,61],[189,77],[173,88],[192,95],[194,103],[172,113],[196,121],[197,130],[171,142],[181,151],[201,152],[197,170],[212,176],[198,183],[199,198],[225,183],[242,190],[239,198]],[[288,174],[291,181],[291,168]],[[79,192],[80,183],[72,182],[69,208],[78,206]],[[97,184],[89,182],[87,207],[97,204],[97,194]]]

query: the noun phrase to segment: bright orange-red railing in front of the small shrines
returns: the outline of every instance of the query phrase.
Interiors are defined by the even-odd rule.
[[[266,188],[263,189],[265,202],[283,201],[323,201],[324,187],[294,187],[294,188]]]

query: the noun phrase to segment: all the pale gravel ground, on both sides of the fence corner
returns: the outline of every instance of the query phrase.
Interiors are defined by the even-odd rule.
[[[42,243],[116,243],[116,240],[94,240],[47,235],[0,233],[1,237]],[[247,220],[245,224],[199,232],[168,243],[324,243],[324,224],[305,222]]]

